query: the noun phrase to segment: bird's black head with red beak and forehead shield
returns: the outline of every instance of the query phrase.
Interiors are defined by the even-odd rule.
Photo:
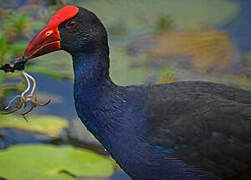
[[[71,54],[92,52],[106,44],[107,33],[97,16],[84,8],[68,5],[31,40],[24,57],[33,59],[58,50]]]

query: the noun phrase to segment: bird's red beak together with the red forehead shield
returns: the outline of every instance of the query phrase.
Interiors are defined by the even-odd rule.
[[[58,26],[77,15],[79,9],[76,6],[65,6],[60,9],[45,26],[30,42],[24,52],[24,57],[33,59],[53,51],[61,50],[60,34]]]

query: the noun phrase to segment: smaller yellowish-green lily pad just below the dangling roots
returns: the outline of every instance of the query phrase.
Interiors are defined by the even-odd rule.
[[[56,116],[28,117],[28,123],[22,117],[13,115],[0,115],[0,128],[14,128],[25,131],[34,131],[51,137],[58,137],[63,128],[68,127],[68,122]]]

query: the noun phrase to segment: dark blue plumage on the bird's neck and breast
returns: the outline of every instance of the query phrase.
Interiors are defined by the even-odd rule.
[[[98,61],[108,63],[108,54],[73,55],[76,110],[121,167],[135,179],[209,179],[209,173],[169,158],[168,147],[162,151],[149,144],[145,136],[154,114],[147,107],[145,87],[116,86]]]

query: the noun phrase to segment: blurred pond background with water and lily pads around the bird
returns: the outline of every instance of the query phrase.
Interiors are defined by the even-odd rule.
[[[206,80],[251,90],[250,0],[0,0],[0,65],[66,4],[105,24],[111,77],[119,85]],[[26,67],[41,102],[29,122],[0,115],[0,179],[129,180],[77,118],[71,57],[55,52]],[[0,72],[0,109],[24,90],[20,72]]]

